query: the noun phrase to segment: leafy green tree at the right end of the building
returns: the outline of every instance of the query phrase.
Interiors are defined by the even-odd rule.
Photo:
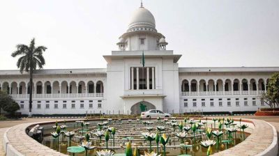
[[[262,100],[271,108],[279,107],[279,72],[273,73],[267,84],[266,94],[262,95]]]

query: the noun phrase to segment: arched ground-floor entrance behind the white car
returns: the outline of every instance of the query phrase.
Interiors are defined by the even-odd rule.
[[[141,101],[141,102],[137,102],[136,104],[134,104],[130,111],[131,111],[131,114],[137,114],[137,115],[140,115],[140,113],[142,113],[143,111],[148,111],[149,109],[156,109],[156,107],[149,103],[149,102],[146,102],[146,101]]]

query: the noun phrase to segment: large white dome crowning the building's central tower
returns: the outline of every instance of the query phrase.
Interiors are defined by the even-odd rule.
[[[155,28],[155,19],[152,13],[144,7],[135,10],[130,20],[129,28],[135,26],[151,26]]]

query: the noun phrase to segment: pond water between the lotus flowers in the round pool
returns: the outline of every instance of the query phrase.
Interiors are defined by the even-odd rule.
[[[75,137],[71,139],[71,146],[79,146],[82,141],[84,141],[84,134],[87,132],[89,133],[90,140],[91,140],[91,146],[95,146],[93,150],[88,150],[88,155],[96,155],[97,150],[105,150],[106,148],[106,143],[105,143],[105,137],[99,137],[94,134],[94,132],[103,130],[107,130],[109,127],[114,127],[116,129],[116,134],[114,135],[114,147],[113,147],[113,142],[112,142],[112,134],[110,134],[110,140],[108,141],[108,149],[113,150],[115,153],[125,153],[126,149],[126,143],[129,139],[129,141],[132,143],[132,148],[134,150],[135,146],[137,146],[137,149],[140,150],[140,154],[144,155],[144,151],[149,152],[149,146],[150,142],[146,141],[144,139],[142,133],[144,132],[149,132],[149,133],[154,133],[158,132],[159,134],[165,133],[167,137],[169,137],[169,142],[166,145],[166,155],[172,156],[172,155],[183,155],[183,154],[188,154],[188,155],[206,155],[207,148],[204,148],[201,146],[200,142],[204,140],[208,140],[206,137],[206,129],[207,128],[212,128],[214,129],[213,126],[213,121],[207,120],[207,123],[202,125],[199,129],[195,131],[195,138],[193,136],[193,131],[189,130],[186,133],[186,138],[185,139],[180,139],[179,137],[176,137],[177,133],[181,132],[179,130],[179,127],[172,127],[169,121],[164,121],[164,120],[148,120],[146,124],[144,124],[143,120],[112,120],[111,123],[107,122],[107,120],[102,121],[84,121],[88,122],[89,126],[86,127],[81,127],[81,124],[77,124],[75,122],[73,123],[66,123],[68,126],[66,128],[66,131],[75,131]],[[179,124],[181,123],[182,120],[176,120],[176,123]],[[198,121],[196,120],[198,123]],[[98,126],[98,123],[107,123],[104,124],[103,126]],[[174,123],[174,122],[173,122]],[[218,122],[216,122],[218,123]],[[64,125],[64,123],[59,123],[59,125]],[[163,126],[165,127],[165,130],[163,131],[158,131],[156,130],[158,126]],[[183,122],[183,127],[190,126],[190,123],[184,123]],[[236,127],[236,125],[227,125],[227,127]],[[52,128],[52,125],[44,125],[45,130],[44,134],[45,137],[43,139],[43,145],[48,146],[54,150],[58,150],[60,153],[64,154],[70,154],[67,152],[67,147],[69,146],[69,141],[68,137],[65,137],[63,132],[61,132],[61,135],[59,136],[59,147],[57,146],[57,139],[54,139],[50,133],[54,132],[54,129]],[[216,126],[217,127],[217,126]],[[212,146],[212,154],[217,153],[218,151],[225,150],[227,148],[231,148],[233,146],[236,146],[238,143],[241,143],[243,141],[243,138],[248,137],[250,134],[248,133],[240,133],[235,132],[232,133],[229,137],[229,132],[226,130],[226,125],[223,125],[224,128],[221,130],[224,132],[223,135],[220,137],[220,143],[219,143],[219,148],[217,149],[217,143]],[[236,127],[237,128],[237,127]],[[149,130],[147,130],[149,129]],[[80,130],[84,130],[84,132],[79,132]],[[239,128],[238,128],[239,130]],[[183,132],[185,132],[183,130]],[[82,138],[82,139],[81,139]],[[216,137],[212,135],[211,140],[216,141]],[[54,143],[55,140],[55,143]],[[223,143],[222,143],[223,141]],[[228,143],[224,143],[228,141]],[[187,148],[182,147],[182,146],[188,146]],[[158,151],[157,151],[157,146],[156,146],[156,141],[151,141],[151,146],[152,150],[156,153],[163,154],[163,146],[158,146]],[[83,153],[76,153],[75,155],[85,155],[85,152]]]

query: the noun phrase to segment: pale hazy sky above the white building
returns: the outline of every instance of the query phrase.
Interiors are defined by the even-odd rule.
[[[144,0],[179,67],[279,66],[278,0]],[[0,70],[36,38],[45,69],[106,68],[140,0],[1,0]]]

